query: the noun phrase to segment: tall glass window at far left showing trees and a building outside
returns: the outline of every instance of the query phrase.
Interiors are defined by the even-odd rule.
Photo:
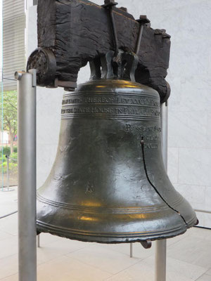
[[[17,89],[14,72],[25,70],[25,0],[1,1],[0,185],[18,185]]]

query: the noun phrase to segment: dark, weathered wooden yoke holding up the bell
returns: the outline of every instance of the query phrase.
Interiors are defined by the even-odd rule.
[[[39,86],[74,90],[81,67],[115,51],[110,15],[105,7],[88,0],[39,0],[37,11],[39,48],[30,55],[27,69],[37,69]],[[170,35],[165,30],[153,30],[143,16],[134,20],[126,8],[114,6],[113,19],[118,48],[127,53],[137,50],[143,25],[135,78],[157,90],[164,102],[170,96],[170,86],[165,81]]]

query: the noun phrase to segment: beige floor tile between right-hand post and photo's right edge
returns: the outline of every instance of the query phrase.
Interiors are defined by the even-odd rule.
[[[167,256],[203,268],[211,268],[211,242],[198,237],[186,237],[171,245]]]

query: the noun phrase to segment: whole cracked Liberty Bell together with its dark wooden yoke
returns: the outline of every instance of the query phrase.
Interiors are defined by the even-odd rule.
[[[101,19],[97,30],[91,33],[94,44],[91,45],[89,38],[86,46],[83,41],[75,46],[74,42],[79,40],[77,31],[69,38],[66,35],[69,30],[63,30],[65,27],[59,22],[64,20],[58,13],[59,9],[63,12],[63,6],[55,6],[58,16],[52,16],[49,22],[53,28],[46,28],[44,2],[39,1],[38,6],[39,45],[43,46],[32,53],[27,68],[38,70],[40,86],[71,88],[71,77],[76,72],[70,62],[79,65],[82,59],[86,58],[87,63],[89,58],[91,79],[63,96],[56,159],[51,174],[37,192],[37,232],[99,243],[144,243],[184,233],[198,220],[166,174],[161,147],[160,95],[146,86],[159,86],[159,77],[166,76],[165,72],[158,72],[168,67],[170,37],[164,30],[146,26],[149,24],[146,16],[140,17],[140,29],[133,33],[138,23],[125,9],[115,8],[113,13],[114,1],[106,0],[105,9],[84,1],[80,4],[84,5],[83,14],[80,10],[78,15],[75,9],[80,5],[67,1],[61,14],[67,17],[67,22],[72,22],[75,30],[89,30],[75,22],[89,24],[94,15]],[[74,13],[66,13],[66,9]],[[82,15],[86,22],[75,20]],[[114,48],[110,47],[110,33],[106,30],[109,16]],[[119,21],[117,26],[115,20]],[[128,38],[132,37],[124,43],[121,28],[127,23],[125,32]],[[90,26],[95,28],[92,23]],[[143,27],[144,48],[151,48],[146,60],[143,60],[144,53],[141,56],[139,52]],[[98,44],[95,38],[101,29],[106,39]],[[52,32],[58,37],[56,43],[52,43],[53,39],[49,41]],[[137,39],[134,34],[138,34]],[[130,44],[135,39],[133,53]],[[50,48],[52,44],[55,46]],[[157,66],[160,64],[162,67]],[[143,77],[137,77],[138,65],[139,69],[142,67],[141,73],[146,74]],[[152,68],[149,74],[145,71],[147,67]],[[159,79],[155,81],[153,77]]]

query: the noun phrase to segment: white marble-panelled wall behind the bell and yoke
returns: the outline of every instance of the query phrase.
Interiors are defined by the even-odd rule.
[[[103,4],[103,0],[94,0]],[[168,173],[175,188],[195,208],[211,210],[211,1],[119,0],[135,18],[146,14],[153,28],[172,35],[167,81],[169,100]],[[30,8],[28,53],[36,48],[35,7]],[[85,67],[79,82],[89,78]],[[62,90],[39,89],[37,96],[38,186],[56,154]],[[211,227],[211,215],[198,214]]]

